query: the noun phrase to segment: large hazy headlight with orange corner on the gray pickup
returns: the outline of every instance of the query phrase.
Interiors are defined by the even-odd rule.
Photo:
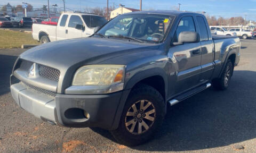
[[[124,81],[125,65],[86,65],[79,68],[73,86],[108,86]]]

